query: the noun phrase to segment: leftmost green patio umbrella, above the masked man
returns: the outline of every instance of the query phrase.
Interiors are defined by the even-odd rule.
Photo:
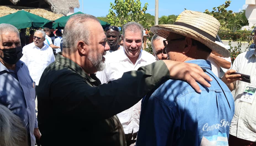
[[[43,27],[49,26],[50,20],[40,17],[38,15],[26,12],[24,10],[0,17],[0,24],[8,23],[17,27],[17,29],[27,27]]]

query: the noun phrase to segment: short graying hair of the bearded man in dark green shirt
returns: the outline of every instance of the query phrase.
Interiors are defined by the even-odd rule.
[[[90,44],[90,30],[86,22],[91,20],[99,22],[99,19],[89,14],[76,14],[68,19],[62,35],[62,52],[72,54],[77,50],[76,43],[80,40]]]

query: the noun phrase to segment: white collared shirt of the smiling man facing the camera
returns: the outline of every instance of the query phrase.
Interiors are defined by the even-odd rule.
[[[122,48],[105,56],[106,68],[103,71],[97,72],[96,76],[101,83],[108,83],[109,81],[121,78],[124,72],[137,70],[139,67],[155,61],[155,57],[152,54],[141,50],[139,58],[136,63],[133,64],[125,54],[125,50]],[[132,133],[132,131],[133,133],[136,133],[139,130],[140,111],[141,101],[131,108],[117,114],[125,134]]]

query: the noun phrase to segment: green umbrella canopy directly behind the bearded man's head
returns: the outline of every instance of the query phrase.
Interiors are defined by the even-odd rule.
[[[76,12],[76,13],[74,13],[74,14],[72,14],[72,15],[62,16],[62,17],[60,17],[59,19],[56,19],[56,20],[54,21],[54,23],[52,23],[52,28],[54,28],[54,29],[64,29],[64,27],[65,27],[65,25],[66,25],[68,19],[69,19],[71,16],[76,15],[76,14],[84,14],[84,13],[82,13],[82,12]],[[101,26],[103,27],[103,29],[105,29],[107,26],[110,26],[110,24],[107,23],[107,22],[104,22],[104,21],[101,21],[101,20],[99,20],[99,21],[100,21]]]

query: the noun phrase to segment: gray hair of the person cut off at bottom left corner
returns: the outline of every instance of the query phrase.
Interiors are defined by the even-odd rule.
[[[0,146],[27,146],[28,133],[18,116],[0,104]]]

